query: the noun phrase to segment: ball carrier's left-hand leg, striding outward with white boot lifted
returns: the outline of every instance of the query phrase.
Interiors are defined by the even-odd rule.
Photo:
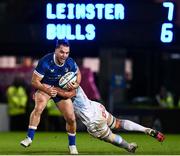
[[[28,147],[32,143],[35,131],[40,122],[41,114],[50,98],[49,95],[42,91],[37,91],[34,96],[35,107],[30,115],[27,137],[20,143],[24,147]]]

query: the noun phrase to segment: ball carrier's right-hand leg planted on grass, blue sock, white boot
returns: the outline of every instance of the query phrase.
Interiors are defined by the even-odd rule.
[[[76,148],[76,118],[72,101],[71,99],[61,100],[57,103],[57,107],[62,112],[64,119],[66,120],[70,154],[78,154],[78,150]]]

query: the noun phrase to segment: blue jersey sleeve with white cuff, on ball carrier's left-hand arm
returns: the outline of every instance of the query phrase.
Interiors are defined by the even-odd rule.
[[[34,70],[34,73],[36,75],[38,75],[39,77],[44,77],[45,75],[45,71],[46,71],[46,68],[45,68],[45,61],[43,59],[40,59],[39,62],[38,62],[38,65],[36,66],[35,70]]]

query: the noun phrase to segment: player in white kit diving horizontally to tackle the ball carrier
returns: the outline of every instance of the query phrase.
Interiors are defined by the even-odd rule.
[[[57,94],[60,94],[57,89]],[[156,130],[144,127],[130,120],[122,120],[110,114],[105,107],[95,101],[88,99],[83,89],[79,86],[73,91],[66,91],[71,94],[74,92],[72,98],[75,114],[80,118],[83,124],[87,127],[87,131],[92,136],[109,142],[115,146],[126,149],[128,152],[134,153],[137,149],[136,143],[128,143],[120,135],[114,134],[111,130],[124,129],[127,131],[143,132],[149,136],[156,138],[158,141],[164,141],[164,135]],[[61,94],[62,96],[62,94]]]

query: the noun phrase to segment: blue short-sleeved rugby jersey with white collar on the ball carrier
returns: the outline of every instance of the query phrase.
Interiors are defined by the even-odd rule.
[[[55,54],[49,53],[39,60],[34,73],[43,78],[42,83],[58,87],[61,76],[70,71],[77,73],[77,69],[78,66],[71,57],[68,57],[60,66],[55,63]]]

